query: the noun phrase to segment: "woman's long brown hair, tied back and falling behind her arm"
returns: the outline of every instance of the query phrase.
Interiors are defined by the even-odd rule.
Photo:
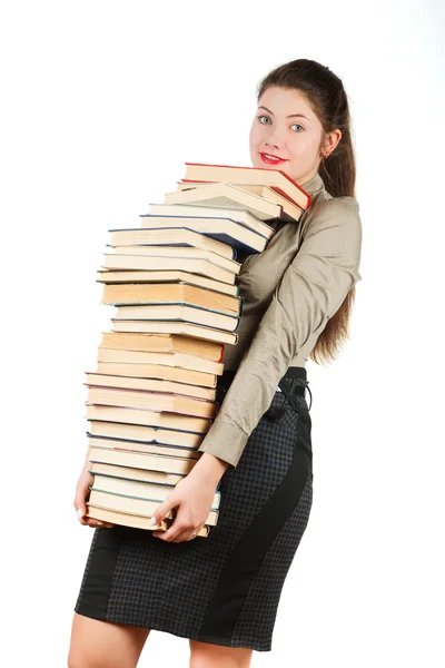
[[[350,132],[349,105],[342,79],[315,60],[291,60],[271,70],[258,85],[257,100],[267,88],[294,88],[304,95],[318,117],[324,132],[342,130],[342,139],[329,158],[320,161],[318,174],[333,197],[355,197],[355,157]],[[322,150],[322,137],[319,150]],[[355,299],[355,286],[347,293],[338,311],[327,321],[310,358],[316,364],[333,362],[347,338]]]

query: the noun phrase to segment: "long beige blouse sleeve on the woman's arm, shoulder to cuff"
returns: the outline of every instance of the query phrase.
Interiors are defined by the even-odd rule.
[[[300,346],[323,332],[360,281],[359,206],[353,197],[322,203],[245,353],[199,451],[236,466]]]

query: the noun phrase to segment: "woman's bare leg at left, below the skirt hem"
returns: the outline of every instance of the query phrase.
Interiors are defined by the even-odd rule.
[[[135,668],[149,632],[75,612],[68,668]]]

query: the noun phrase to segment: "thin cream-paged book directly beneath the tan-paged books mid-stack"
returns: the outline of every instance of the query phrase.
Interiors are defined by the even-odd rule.
[[[200,385],[187,385],[171,381],[159,381],[156,379],[135,379],[126,375],[110,375],[105,373],[85,373],[85,385],[97,385],[99,387],[127,387],[128,390],[148,390],[151,392],[167,392],[182,394],[196,399],[216,400],[216,390],[201,387]]]

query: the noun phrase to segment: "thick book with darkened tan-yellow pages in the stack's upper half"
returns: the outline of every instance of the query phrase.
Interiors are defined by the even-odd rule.
[[[184,281],[178,283],[157,283],[156,285],[128,284],[105,285],[102,304],[117,306],[136,304],[175,304],[187,302],[202,308],[238,316],[243,297],[233,297],[216,293],[206,287],[197,287]]]

